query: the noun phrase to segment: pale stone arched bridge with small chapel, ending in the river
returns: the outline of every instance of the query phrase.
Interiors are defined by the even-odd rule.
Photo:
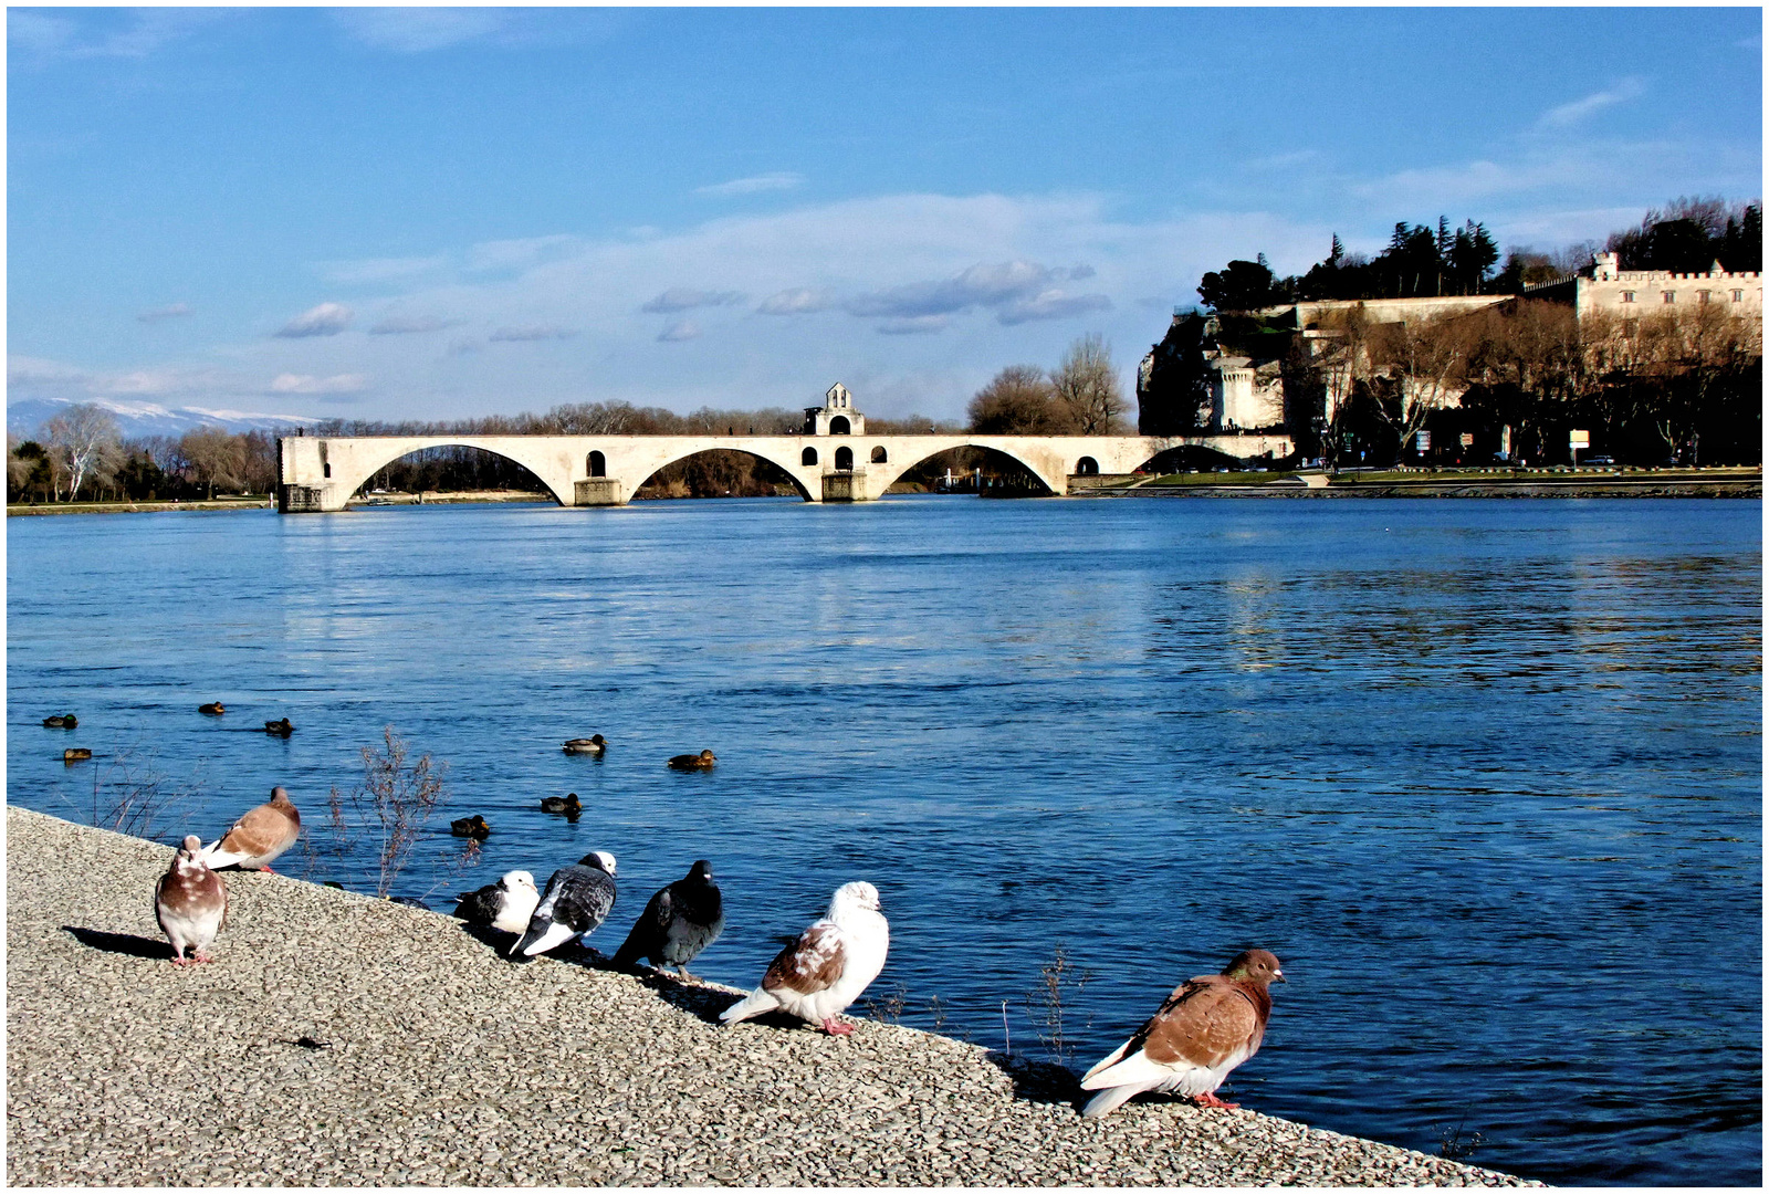
[[[858,419],[856,419],[858,421]],[[840,423],[837,423],[842,426]],[[863,425],[862,425],[863,426]],[[623,506],[658,469],[702,451],[759,456],[785,472],[807,502],[865,502],[904,472],[953,448],[987,448],[1026,467],[1053,494],[1070,476],[1134,472],[1173,448],[1237,458],[1288,456],[1288,435],[292,435],[280,440],[276,508],[343,509],[375,472],[426,448],[478,448],[513,460],[561,506]]]

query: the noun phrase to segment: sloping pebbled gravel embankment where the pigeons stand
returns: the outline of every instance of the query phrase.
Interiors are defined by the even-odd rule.
[[[230,874],[216,962],[180,969],[168,847],[21,808],[7,837],[14,1185],[1518,1183],[1251,1111],[1086,1121],[978,1045],[716,1028],[724,989],[511,964],[281,876]]]

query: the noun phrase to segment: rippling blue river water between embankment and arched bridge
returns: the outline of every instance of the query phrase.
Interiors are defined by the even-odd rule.
[[[609,849],[612,952],[704,856],[731,927],[695,971],[750,985],[870,879],[874,996],[991,1047],[1005,999],[1047,1051],[1063,946],[1077,1068],[1263,945],[1290,982],[1224,1091],[1258,1111],[1760,1183],[1758,502],[430,506],[14,518],[7,548],[23,805],[159,775],[200,789],[170,842],[283,784],[313,854],[280,869],[371,890],[325,792],[393,725],[449,766],[394,888],[439,907]],[[559,750],[591,732],[603,761]],[[566,791],[577,824],[536,810]],[[451,876],[469,812],[495,831]]]

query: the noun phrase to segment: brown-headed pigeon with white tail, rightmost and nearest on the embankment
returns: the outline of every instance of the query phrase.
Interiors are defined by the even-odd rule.
[[[1081,1114],[1099,1118],[1148,1090],[1191,1095],[1199,1107],[1235,1107],[1214,1091],[1260,1051],[1272,1015],[1272,982],[1284,982],[1277,959],[1267,950],[1245,950],[1221,975],[1180,984],[1153,1019],[1081,1075],[1081,1090],[1100,1091]]]

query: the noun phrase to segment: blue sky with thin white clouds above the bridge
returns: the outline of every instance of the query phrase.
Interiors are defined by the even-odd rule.
[[[961,419],[1205,271],[1762,193],[1760,9],[9,9],[9,403]]]

